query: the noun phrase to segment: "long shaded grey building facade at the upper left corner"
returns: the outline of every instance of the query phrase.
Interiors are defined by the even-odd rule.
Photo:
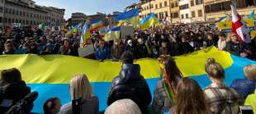
[[[42,7],[32,0],[3,0],[1,3],[2,26],[36,26],[44,23],[48,26],[60,26],[64,23],[64,9]],[[1,16],[1,14],[0,14]]]

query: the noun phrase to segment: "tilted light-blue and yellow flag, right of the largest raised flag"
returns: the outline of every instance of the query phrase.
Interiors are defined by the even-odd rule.
[[[145,17],[142,21],[140,21],[140,29],[146,30],[149,29],[153,25],[158,25],[159,20],[156,18],[154,13],[150,13],[149,16]]]

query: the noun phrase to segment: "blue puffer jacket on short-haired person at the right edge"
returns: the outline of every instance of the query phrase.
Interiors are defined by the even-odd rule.
[[[235,89],[241,98],[246,98],[250,93],[254,93],[256,80],[237,79],[231,84],[231,88]]]

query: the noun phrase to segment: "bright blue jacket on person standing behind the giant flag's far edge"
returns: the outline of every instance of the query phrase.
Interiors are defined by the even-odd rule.
[[[105,46],[104,48],[97,48],[95,52],[95,57],[97,60],[104,60],[110,57],[110,51]]]

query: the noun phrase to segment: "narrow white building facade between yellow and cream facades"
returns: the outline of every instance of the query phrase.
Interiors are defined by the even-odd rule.
[[[190,1],[189,0],[180,0],[179,4],[179,16],[181,18],[181,23],[191,23],[192,16],[190,11]]]

